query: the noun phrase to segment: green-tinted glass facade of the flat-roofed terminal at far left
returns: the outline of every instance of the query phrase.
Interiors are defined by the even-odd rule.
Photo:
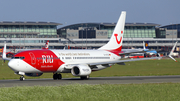
[[[0,38],[57,38],[57,24],[0,22]]]

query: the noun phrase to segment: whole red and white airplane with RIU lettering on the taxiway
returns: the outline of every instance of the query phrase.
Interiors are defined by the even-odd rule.
[[[4,44],[3,60],[9,60],[8,66],[15,74],[20,75],[20,81],[26,76],[38,77],[43,73],[52,72],[54,80],[62,79],[61,73],[71,73],[82,80],[89,79],[92,71],[98,71],[114,64],[124,62],[159,59],[161,57],[121,60],[123,55],[122,42],[126,12],[122,11],[109,42],[97,50],[27,50],[15,54],[11,59],[6,58]]]

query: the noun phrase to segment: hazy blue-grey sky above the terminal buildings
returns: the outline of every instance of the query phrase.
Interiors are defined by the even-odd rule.
[[[0,0],[0,21],[180,23],[180,0]]]

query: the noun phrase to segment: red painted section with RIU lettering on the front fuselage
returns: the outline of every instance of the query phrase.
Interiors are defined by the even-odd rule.
[[[26,63],[42,72],[56,72],[64,64],[51,50],[46,49],[23,51],[15,57],[25,57],[23,60]]]

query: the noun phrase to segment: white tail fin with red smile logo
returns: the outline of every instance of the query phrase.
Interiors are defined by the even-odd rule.
[[[104,46],[100,47],[99,50],[121,51],[125,19],[126,19],[126,12],[122,11],[109,42]]]

